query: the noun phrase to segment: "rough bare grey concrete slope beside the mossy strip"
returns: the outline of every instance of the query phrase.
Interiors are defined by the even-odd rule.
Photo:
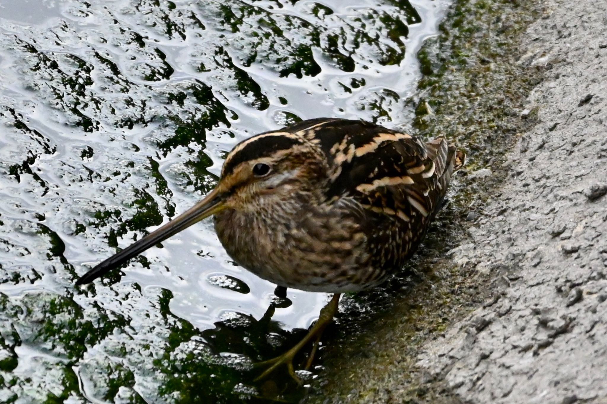
[[[466,403],[607,402],[607,3],[544,4],[519,61],[546,68],[537,124],[452,251],[502,286],[418,358]]]

